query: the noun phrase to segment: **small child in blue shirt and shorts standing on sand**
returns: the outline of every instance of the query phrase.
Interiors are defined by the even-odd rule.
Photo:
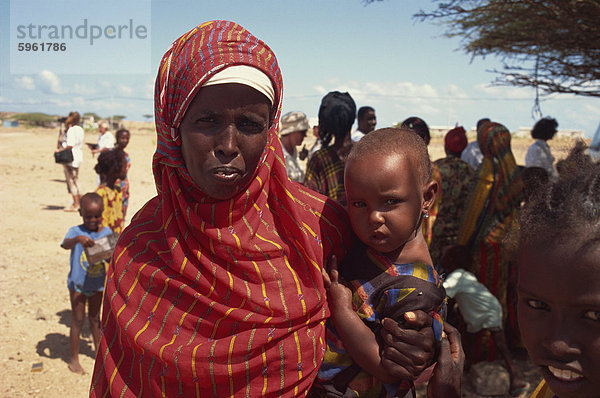
[[[86,302],[95,349],[98,349],[100,342],[100,306],[104,290],[105,265],[103,262],[88,264],[83,248],[94,246],[94,240],[112,234],[110,228],[100,225],[102,210],[102,198],[97,193],[83,195],[79,209],[83,224],[69,228],[61,243],[63,249],[71,250],[71,270],[67,278],[72,313],[69,333],[71,346],[69,369],[79,374],[85,374],[79,364],[79,335],[83,327]]]

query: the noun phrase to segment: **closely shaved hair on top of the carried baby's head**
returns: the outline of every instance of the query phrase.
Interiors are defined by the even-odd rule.
[[[431,160],[421,137],[406,128],[385,128],[370,132],[355,142],[347,162],[367,155],[405,155],[423,183],[431,180]],[[376,170],[374,170],[376,172]]]

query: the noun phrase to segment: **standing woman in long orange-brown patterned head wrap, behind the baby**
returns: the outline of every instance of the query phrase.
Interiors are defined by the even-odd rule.
[[[469,271],[500,301],[504,317],[512,316],[506,294],[510,253],[502,241],[515,226],[523,182],[506,127],[485,123],[477,132],[477,141],[483,161],[475,176],[457,243],[471,249],[473,265]],[[489,355],[493,356],[493,351]]]

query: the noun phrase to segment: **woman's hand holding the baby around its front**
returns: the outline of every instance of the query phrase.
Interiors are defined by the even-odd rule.
[[[404,314],[405,325],[393,319],[381,322],[381,338],[385,344],[381,362],[398,381],[415,380],[435,360],[433,319],[424,311]]]

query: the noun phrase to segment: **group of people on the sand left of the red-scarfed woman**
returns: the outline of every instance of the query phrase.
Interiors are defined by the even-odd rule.
[[[80,122],[79,113],[71,112],[64,121],[64,134],[61,129],[57,145],[58,149],[71,149],[73,154],[73,161],[63,164],[67,189],[73,197],[73,203],[66,210],[78,211],[83,221],[69,228],[61,243],[61,247],[71,251],[67,277],[72,310],[69,369],[75,373],[84,373],[79,363],[79,339],[86,304],[96,347],[100,341],[100,308],[108,268],[105,259],[95,263],[88,261],[85,249],[94,246],[96,240],[118,235],[123,230],[129,199],[127,170],[130,166],[129,155],[125,152],[129,131],[118,130],[115,139],[108,130],[108,123],[101,121],[98,124],[98,143],[88,144],[92,155],[97,156],[94,170],[98,175],[98,185],[93,192],[81,195],[78,176],[83,161],[84,130]]]

